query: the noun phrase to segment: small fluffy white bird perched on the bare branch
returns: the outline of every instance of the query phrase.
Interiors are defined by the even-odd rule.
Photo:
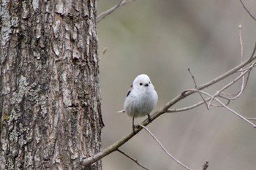
[[[124,101],[124,109],[119,112],[126,112],[132,117],[132,129],[135,131],[134,117],[143,117],[148,115],[157,105],[157,92],[154,85],[146,74],[140,74],[132,82],[131,88]]]

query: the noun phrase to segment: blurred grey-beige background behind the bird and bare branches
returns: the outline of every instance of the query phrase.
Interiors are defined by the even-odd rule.
[[[117,0],[97,1],[98,14],[118,4]],[[256,17],[256,1],[244,0]],[[117,114],[138,74],[151,77],[159,96],[157,108],[194,88],[188,68],[201,85],[227,72],[240,62],[238,25],[242,26],[244,58],[252,54],[256,40],[256,21],[240,1],[233,0],[136,0],[118,8],[98,23],[101,56],[103,148],[132,131],[132,118]],[[238,74],[236,74],[238,75]],[[256,117],[256,69],[252,71],[244,93],[230,108],[245,117]],[[207,88],[214,93],[233,77]],[[241,82],[227,92],[238,91]],[[173,108],[200,101],[194,94]],[[146,117],[138,118],[140,123]],[[256,121],[255,121],[256,123]],[[191,169],[200,169],[206,161],[209,170],[255,170],[256,129],[224,108],[205,105],[187,112],[166,113],[148,125],[165,148]],[[140,131],[120,148],[148,169],[183,170],[170,159],[146,131]],[[140,170],[138,165],[113,152],[102,159],[103,169]]]

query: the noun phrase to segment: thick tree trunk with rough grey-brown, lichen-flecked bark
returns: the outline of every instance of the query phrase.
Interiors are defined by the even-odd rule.
[[[83,169],[103,126],[96,2],[0,3],[0,169]]]

